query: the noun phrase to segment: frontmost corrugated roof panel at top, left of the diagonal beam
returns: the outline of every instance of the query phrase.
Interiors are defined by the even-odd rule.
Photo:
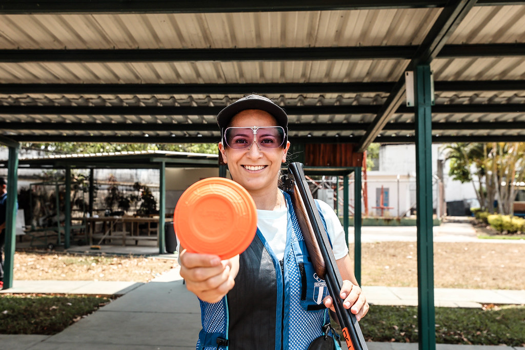
[[[440,9],[207,14],[0,15],[6,49],[418,44]]]

